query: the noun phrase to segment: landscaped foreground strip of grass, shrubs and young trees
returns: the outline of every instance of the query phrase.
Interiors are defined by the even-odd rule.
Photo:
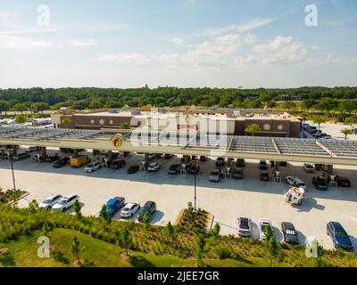
[[[203,210],[189,206],[182,221],[165,227],[110,221],[0,204],[0,266],[357,266],[357,256],[221,236],[205,228]],[[198,216],[197,216],[198,215]],[[201,217],[200,217],[201,216]],[[206,217],[206,216],[205,216]],[[37,238],[50,241],[50,256],[37,256]]]

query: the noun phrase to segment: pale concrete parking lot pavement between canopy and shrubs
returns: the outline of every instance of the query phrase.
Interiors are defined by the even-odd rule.
[[[165,225],[174,222],[188,201],[194,200],[194,175],[168,175],[170,164],[179,163],[179,157],[157,159],[162,164],[156,173],[138,171],[127,174],[134,163],[140,163],[143,155],[130,154],[126,167],[115,170],[102,167],[94,173],[85,173],[84,167],[54,168],[51,163],[34,163],[32,159],[14,162],[16,186],[29,191],[29,196],[19,202],[26,207],[30,200],[38,202],[46,197],[60,193],[76,193],[83,204],[84,215],[97,214],[107,199],[114,196],[125,197],[126,201],[145,204],[154,200],[157,211],[152,218],[153,224]],[[215,159],[199,162],[201,169],[197,175],[197,205],[213,216],[224,234],[237,234],[237,217],[247,216],[253,221],[253,235],[257,237],[258,220],[269,218],[275,227],[278,240],[282,240],[281,222],[292,222],[303,243],[308,236],[316,237],[325,248],[332,247],[326,233],[326,224],[337,221],[344,225],[352,236],[357,248],[357,169],[354,167],[334,167],[335,174],[347,175],[352,181],[351,188],[330,187],[328,191],[317,191],[311,184],[313,174],[303,171],[302,164],[288,164],[280,167],[282,183],[262,182],[259,179],[258,161],[246,160],[243,180],[223,178],[220,183],[208,181]],[[271,173],[271,168],[269,167]],[[284,200],[288,185],[286,175],[295,175],[307,184],[306,199],[303,205],[291,207]],[[10,162],[0,160],[1,187],[12,188]],[[119,215],[114,216],[119,219]]]

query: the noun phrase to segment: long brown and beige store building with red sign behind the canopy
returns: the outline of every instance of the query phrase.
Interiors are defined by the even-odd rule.
[[[257,124],[262,131],[254,135],[273,137],[300,137],[301,129],[301,121],[285,112],[214,108],[154,109],[151,106],[120,110],[58,110],[52,115],[52,123],[56,127],[77,129],[119,128],[121,124],[128,123],[133,128],[146,126],[152,131],[234,135],[246,135],[245,128]]]

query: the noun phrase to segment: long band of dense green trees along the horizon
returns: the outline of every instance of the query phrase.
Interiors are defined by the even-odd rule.
[[[329,98],[329,99],[327,99]],[[237,88],[28,88],[0,89],[0,112],[57,110],[71,107],[75,110],[96,108],[201,106],[220,108],[275,108],[277,102],[286,103],[293,110],[295,101],[303,102],[302,108],[310,110],[320,104],[328,110],[336,102],[357,99],[357,87],[300,87],[288,89],[237,89]],[[318,106],[318,107],[319,107]],[[326,106],[326,107],[323,107]],[[344,108],[350,108],[346,103]],[[333,106],[336,108],[336,106]],[[329,109],[330,110],[330,109]]]

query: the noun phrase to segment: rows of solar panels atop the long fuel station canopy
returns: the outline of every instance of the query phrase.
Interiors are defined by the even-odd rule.
[[[60,141],[108,140],[118,134],[114,130],[58,129],[28,126],[0,126],[0,139]],[[336,140],[313,140],[300,138],[272,138],[232,135],[198,134],[135,134],[120,132],[127,139],[146,145],[170,145],[188,149],[236,151],[248,153],[271,153],[285,155],[306,155],[317,157],[357,158],[357,142]]]

